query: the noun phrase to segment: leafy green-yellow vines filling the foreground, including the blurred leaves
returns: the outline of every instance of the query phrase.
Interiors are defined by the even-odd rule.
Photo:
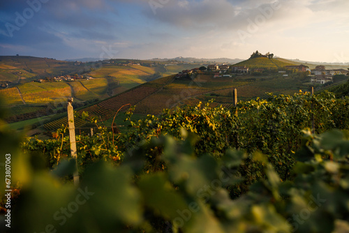
[[[131,107],[128,132],[100,128],[94,136],[77,135],[76,188],[66,122],[57,139],[29,139],[21,151],[19,137],[4,137],[0,146],[13,151],[17,171],[13,222],[22,224],[13,230],[349,230],[349,98],[270,94],[236,107],[214,106],[198,103],[138,121]],[[68,206],[70,218],[63,218],[61,206]],[[77,224],[84,219],[89,224]]]

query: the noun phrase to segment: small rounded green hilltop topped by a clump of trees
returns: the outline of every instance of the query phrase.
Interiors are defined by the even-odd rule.
[[[267,57],[258,57],[255,59],[248,59],[233,66],[246,66],[248,68],[282,68],[285,66],[292,66],[295,63],[288,62],[285,59],[268,59]]]

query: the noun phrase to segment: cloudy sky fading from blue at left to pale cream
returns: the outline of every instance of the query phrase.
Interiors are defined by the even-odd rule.
[[[0,55],[349,63],[348,0],[0,1]]]

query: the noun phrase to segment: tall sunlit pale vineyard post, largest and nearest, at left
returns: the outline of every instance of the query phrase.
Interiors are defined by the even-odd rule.
[[[75,172],[73,174],[74,177],[74,185],[79,185],[79,172],[77,171],[77,150],[76,150],[76,141],[75,141],[75,126],[74,126],[74,111],[73,106],[73,98],[68,99],[68,126],[69,126],[69,140],[70,140],[70,152],[71,157],[75,159]]]

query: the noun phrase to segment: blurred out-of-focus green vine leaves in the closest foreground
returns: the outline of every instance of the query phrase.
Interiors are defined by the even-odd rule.
[[[193,153],[198,138],[185,130],[181,130],[183,140],[152,137],[117,167],[94,163],[76,188],[59,183],[52,172],[33,168],[13,209],[11,230],[334,232],[339,225],[343,230],[349,211],[348,133],[303,133],[302,149],[296,153],[300,160],[290,181],[281,181],[267,156],[253,153],[251,159],[265,176],[235,200],[227,187],[241,181],[237,167],[243,165],[246,153],[231,150],[223,158],[198,158]],[[147,174],[128,163],[146,160],[147,150],[157,147],[163,148],[159,159],[165,171]],[[70,172],[66,169],[66,174]],[[18,220],[21,224],[15,224]]]

